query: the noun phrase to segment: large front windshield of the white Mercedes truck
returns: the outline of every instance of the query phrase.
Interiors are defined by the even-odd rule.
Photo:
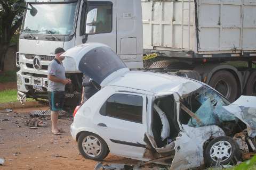
[[[75,28],[77,2],[65,4],[33,4],[37,14],[26,13],[22,33],[70,35]]]

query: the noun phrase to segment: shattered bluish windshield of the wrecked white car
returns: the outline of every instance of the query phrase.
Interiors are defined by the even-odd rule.
[[[223,121],[234,121],[236,117],[223,106],[230,102],[213,89],[203,86],[182,99],[182,104],[195,113],[197,118],[190,117],[189,126],[199,127],[218,125]]]

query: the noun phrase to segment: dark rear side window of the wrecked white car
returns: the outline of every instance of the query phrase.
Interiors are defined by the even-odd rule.
[[[107,99],[100,114],[126,121],[142,123],[143,98],[137,95],[115,94]]]

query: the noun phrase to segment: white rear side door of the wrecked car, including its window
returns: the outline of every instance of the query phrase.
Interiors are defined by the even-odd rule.
[[[106,140],[111,153],[143,157],[147,132],[145,95],[117,92],[109,96],[93,120],[95,130]]]

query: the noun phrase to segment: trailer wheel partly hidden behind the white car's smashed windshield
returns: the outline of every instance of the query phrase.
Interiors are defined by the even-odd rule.
[[[219,91],[230,101],[235,101],[238,96],[238,85],[232,73],[221,70],[212,75],[209,85]]]

